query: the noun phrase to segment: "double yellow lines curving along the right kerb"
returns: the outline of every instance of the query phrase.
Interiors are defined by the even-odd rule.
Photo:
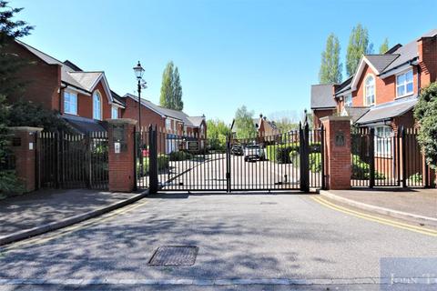
[[[427,235],[427,236],[437,236],[437,231],[430,229],[430,228],[425,228],[425,227],[420,227],[420,226],[412,226],[412,225],[408,225],[408,224],[404,224],[398,221],[394,221],[394,220],[390,220],[390,219],[386,219],[386,218],[382,218],[382,217],[378,217],[378,216],[371,216],[368,214],[364,214],[343,206],[337,206],[335,204],[330,203],[329,201],[321,198],[321,197],[311,197],[311,199],[313,199],[314,201],[320,203],[323,206],[329,207],[333,210],[336,211],[340,211],[342,213],[351,215],[351,216],[357,216],[360,217],[362,219],[366,219],[366,220],[370,220],[376,223],[380,223],[383,225],[387,225],[387,226],[393,226],[393,227],[398,227],[401,229],[406,229],[406,230],[410,230],[416,233],[420,233],[422,235]]]

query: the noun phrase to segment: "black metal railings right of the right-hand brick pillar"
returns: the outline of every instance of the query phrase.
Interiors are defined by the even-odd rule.
[[[429,186],[416,128],[401,127],[387,135],[352,128],[351,154],[352,187]]]

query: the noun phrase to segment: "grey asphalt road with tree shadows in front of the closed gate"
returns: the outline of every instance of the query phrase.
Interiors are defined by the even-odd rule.
[[[437,257],[436,237],[309,195],[161,194],[4,248],[0,290],[379,290],[381,258]],[[196,263],[148,266],[159,246],[198,246]]]

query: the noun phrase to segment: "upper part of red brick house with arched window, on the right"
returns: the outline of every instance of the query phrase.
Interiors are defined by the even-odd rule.
[[[421,88],[437,79],[437,29],[383,55],[362,55],[354,75],[339,85],[312,85],[314,125],[326,115],[350,115],[354,124],[388,135],[415,125]]]

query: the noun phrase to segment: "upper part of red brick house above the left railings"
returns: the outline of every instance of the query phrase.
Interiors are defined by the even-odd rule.
[[[18,40],[7,50],[29,62],[18,74],[25,91],[9,96],[12,102],[23,98],[56,110],[79,132],[104,130],[101,122],[118,118],[125,108],[103,71],[84,72]]]

